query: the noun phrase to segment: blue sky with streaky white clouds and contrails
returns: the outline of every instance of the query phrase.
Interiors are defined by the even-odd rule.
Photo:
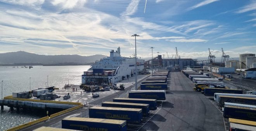
[[[0,53],[256,53],[256,0],[0,0]]]

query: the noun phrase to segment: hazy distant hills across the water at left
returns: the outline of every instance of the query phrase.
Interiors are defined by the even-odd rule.
[[[0,66],[71,66],[90,65],[106,55],[38,55],[24,51],[0,54]]]

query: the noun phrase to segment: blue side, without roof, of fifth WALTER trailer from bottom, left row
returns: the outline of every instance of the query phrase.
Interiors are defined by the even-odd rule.
[[[164,92],[129,92],[129,98],[165,100]]]

